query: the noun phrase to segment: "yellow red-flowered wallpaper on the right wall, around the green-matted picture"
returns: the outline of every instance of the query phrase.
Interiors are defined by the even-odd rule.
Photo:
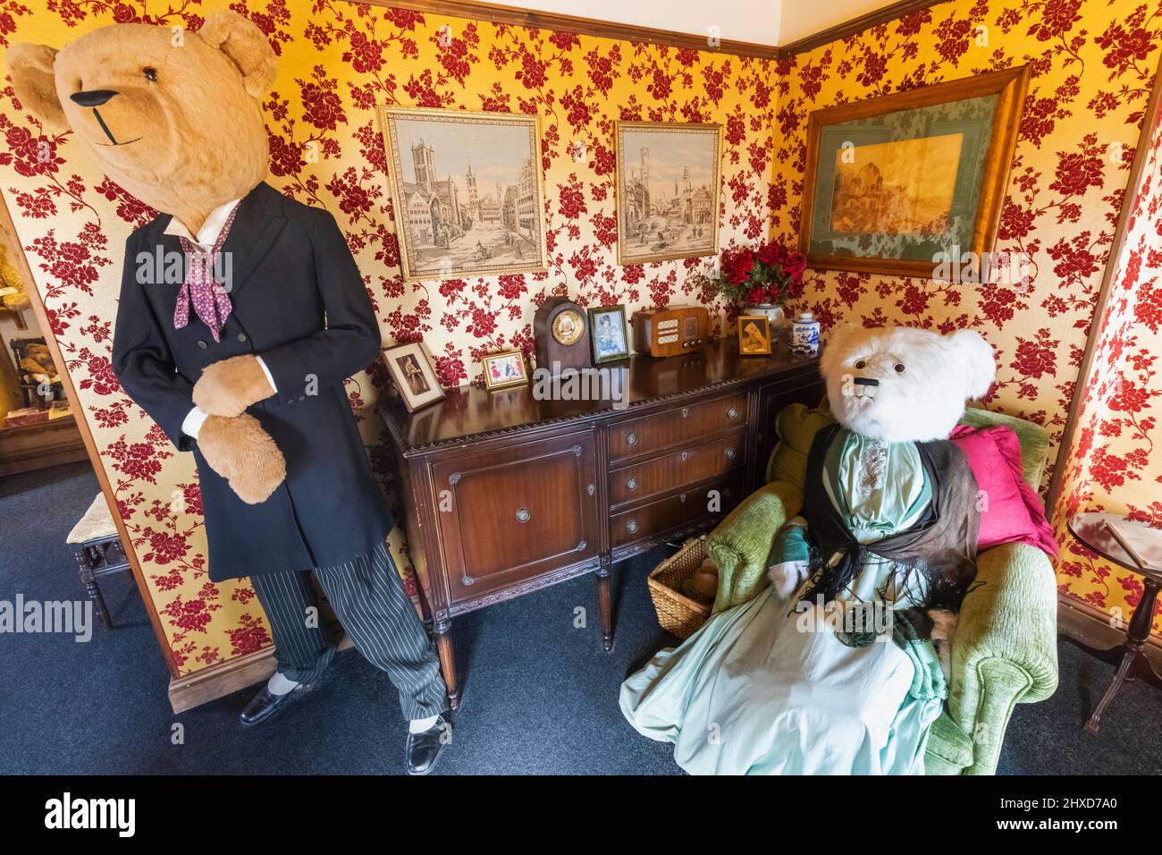
[[[808,271],[799,307],[813,311],[825,326],[855,320],[980,330],[997,354],[988,406],[1049,432],[1046,483],[1075,394],[1160,47],[1157,0],[952,0],[779,64],[772,198],[775,233],[788,238],[798,230],[811,111],[981,71],[1030,66],[996,247],[1028,261],[1030,282],[1014,287]],[[1155,200],[1154,223],[1156,207]],[[1150,214],[1143,216],[1150,221]],[[1116,418],[1104,422],[1100,440],[1091,427],[1089,440],[1077,448],[1088,461],[1075,472],[1073,507],[1095,491],[1100,497],[1117,487],[1120,494],[1125,485],[1134,497],[1118,505],[1143,513],[1150,507],[1147,493],[1157,490],[1162,456],[1153,450],[1154,420],[1145,412],[1162,393],[1149,357],[1150,342],[1157,343],[1159,301],[1147,268],[1153,258],[1156,277],[1157,234],[1153,241],[1153,255],[1138,250],[1141,283],[1135,275],[1135,287],[1147,288],[1148,297],[1138,304],[1136,326],[1125,333],[1125,352],[1109,351],[1111,373],[1098,384],[1106,397],[1121,384],[1124,404],[1113,402]],[[1142,320],[1152,311],[1153,320]],[[1122,307],[1124,314],[1134,312]],[[1145,407],[1134,404],[1140,396]],[[1102,411],[1100,405],[1095,408]],[[1159,521],[1154,501],[1153,519]],[[1067,544],[1060,527],[1059,543]],[[1063,593],[1120,608],[1126,618],[1128,600],[1136,601],[1141,591],[1132,573],[1095,564],[1091,556],[1068,548],[1057,576]]]

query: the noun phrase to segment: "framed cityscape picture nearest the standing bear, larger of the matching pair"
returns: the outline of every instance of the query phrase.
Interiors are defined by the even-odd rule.
[[[381,106],[404,280],[540,271],[537,116]]]

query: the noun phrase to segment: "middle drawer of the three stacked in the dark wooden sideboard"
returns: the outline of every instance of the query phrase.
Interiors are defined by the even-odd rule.
[[[609,473],[609,504],[647,499],[729,472],[746,462],[746,430]]]

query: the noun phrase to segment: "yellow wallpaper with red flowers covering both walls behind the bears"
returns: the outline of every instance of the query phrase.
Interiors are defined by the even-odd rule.
[[[113,22],[196,30],[227,6],[0,0],[0,50],[17,41],[59,47]],[[989,406],[1038,421],[1060,441],[1162,43],[1157,0],[952,0],[777,63],[346,0],[229,7],[253,20],[279,54],[279,78],[263,99],[268,180],[338,218],[385,342],[422,339],[446,386],[479,382],[485,352],[530,354],[532,314],[555,290],[629,312],[704,302],[722,329],[725,307],[690,276],[702,262],[616,263],[615,120],[723,124],[722,244],[770,233],[791,238],[810,111],[1031,65],[998,248],[1033,259],[1032,285],[813,273],[802,307],[829,326],[854,318],[981,329],[1000,366]],[[538,114],[548,271],[404,283],[378,105]],[[121,247],[152,212],[95,170],[69,131],[41,128],[10,86],[0,93],[0,191],[132,535],[171,671],[191,674],[263,648],[270,633],[250,586],[207,577],[192,459],[168,446],[109,366]],[[38,157],[42,137],[46,159]],[[385,483],[374,402],[386,383],[371,366],[347,384]],[[1121,448],[1129,435],[1103,441]],[[406,555],[399,536],[394,546]],[[1067,571],[1062,589],[1089,600],[1100,591],[1103,605],[1132,593],[1128,583],[1111,585],[1096,572]]]

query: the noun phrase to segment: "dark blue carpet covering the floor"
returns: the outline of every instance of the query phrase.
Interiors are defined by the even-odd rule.
[[[0,479],[0,600],[83,597],[65,535],[93,496],[88,464]],[[617,641],[601,648],[591,577],[453,621],[464,703],[438,774],[674,774],[666,744],[622,718],[622,679],[673,643],[645,577],[655,550],[616,569]],[[250,692],[174,715],[149,619],[128,576],[103,590],[117,627],[71,636],[0,634],[0,772],[399,774],[406,734],[387,678],[349,651],[330,682],[265,727],[244,731]],[[578,608],[584,626],[574,626]],[[1062,642],[1061,686],[1020,705],[999,771],[1162,774],[1162,692],[1128,684],[1102,734],[1082,729],[1113,669]],[[180,725],[179,727],[175,727]],[[177,735],[180,734],[180,741]]]

